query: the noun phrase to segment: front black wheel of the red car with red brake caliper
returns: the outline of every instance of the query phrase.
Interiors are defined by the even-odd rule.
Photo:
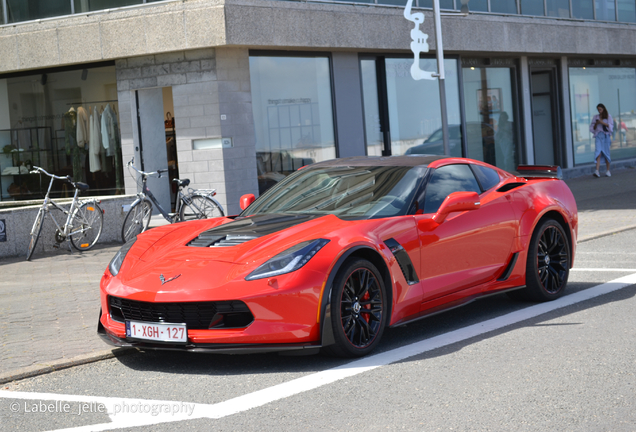
[[[325,347],[338,357],[362,357],[380,343],[387,320],[387,295],[378,269],[364,259],[345,261],[331,290],[335,344]]]

